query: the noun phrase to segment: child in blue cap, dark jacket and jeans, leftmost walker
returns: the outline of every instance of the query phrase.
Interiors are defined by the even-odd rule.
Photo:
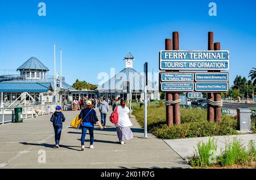
[[[55,132],[55,143],[56,143],[55,148],[60,148],[59,147],[60,135],[63,127],[63,122],[65,122],[65,117],[63,113],[60,112],[60,110],[61,110],[61,107],[57,106],[56,112],[52,114],[52,117],[50,119]]]

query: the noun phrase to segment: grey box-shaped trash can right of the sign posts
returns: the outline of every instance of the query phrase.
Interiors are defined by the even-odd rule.
[[[247,108],[237,108],[237,130],[251,130],[251,110]]]

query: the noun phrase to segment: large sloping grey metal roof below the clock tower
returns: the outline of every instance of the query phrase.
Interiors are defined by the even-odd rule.
[[[132,92],[143,92],[144,91],[144,76],[135,71],[134,68],[125,68],[113,78],[100,85],[96,90],[99,92],[122,92],[123,82],[131,82]],[[148,80],[148,91],[159,91],[158,85]]]

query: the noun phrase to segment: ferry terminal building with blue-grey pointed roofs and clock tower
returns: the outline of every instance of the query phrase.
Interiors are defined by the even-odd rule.
[[[128,53],[125,60],[125,68],[100,85],[94,91],[83,89],[78,91],[72,85],[65,83],[64,77],[56,77],[56,96],[54,96],[54,76],[48,75],[49,69],[36,57],[31,57],[16,71],[16,75],[0,75],[0,101],[1,106],[50,104],[62,103],[63,100],[73,101],[80,98],[115,98],[121,97],[130,100],[130,92],[124,91],[123,83],[130,82],[133,100],[144,97],[143,74],[133,68],[134,57]],[[60,80],[61,78],[61,80]],[[158,86],[148,82],[148,98],[159,100]]]

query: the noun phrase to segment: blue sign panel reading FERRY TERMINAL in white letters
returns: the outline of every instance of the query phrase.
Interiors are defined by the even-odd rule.
[[[161,50],[160,60],[208,60],[208,61],[228,61],[228,50]]]

